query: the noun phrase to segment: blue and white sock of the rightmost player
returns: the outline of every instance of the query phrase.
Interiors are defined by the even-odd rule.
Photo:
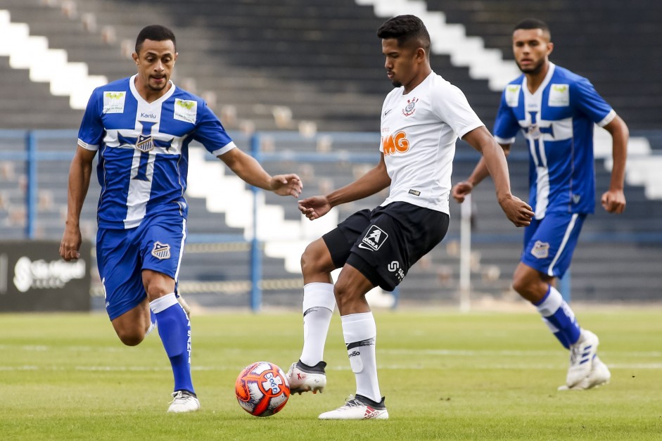
[[[549,285],[545,297],[534,305],[542,315],[542,321],[559,339],[561,345],[570,349],[570,345],[577,343],[581,328],[575,319],[575,313],[554,286]]]

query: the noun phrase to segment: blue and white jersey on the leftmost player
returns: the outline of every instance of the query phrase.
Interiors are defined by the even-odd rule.
[[[189,143],[199,141],[215,156],[235,147],[202,98],[171,83],[164,96],[147,103],[134,78],[95,89],[78,132],[79,146],[99,152],[102,228],[133,228],[164,212],[186,217]]]

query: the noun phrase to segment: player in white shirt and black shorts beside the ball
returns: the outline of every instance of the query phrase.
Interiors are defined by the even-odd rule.
[[[386,76],[395,89],[381,110],[381,158],[348,186],[299,201],[308,219],[332,207],[390,186],[374,210],[362,210],[307,246],[304,279],[304,345],[288,371],[293,392],[326,385],[324,344],[338,304],[356,393],[321,419],[388,418],[377,381],[376,324],[365,294],[375,286],[393,290],[407,271],[445,236],[455,141],[461,137],[483,153],[508,219],[526,226],[533,212],[510,192],[502,148],[485,129],[457,87],[430,66],[430,36],[419,18],[400,15],[379,28]],[[331,271],[342,267],[335,286]]]

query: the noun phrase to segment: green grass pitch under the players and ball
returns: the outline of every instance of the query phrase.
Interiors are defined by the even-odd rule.
[[[248,415],[234,381],[250,362],[298,359],[300,314],[193,317],[202,409],[166,414],[172,373],[150,335],[121,345],[103,314],[0,314],[4,440],[661,440],[662,310],[578,311],[601,338],[609,385],[557,392],[566,352],[528,313],[376,312],[388,421],[319,421],[355,390],[340,320],[324,394]]]

